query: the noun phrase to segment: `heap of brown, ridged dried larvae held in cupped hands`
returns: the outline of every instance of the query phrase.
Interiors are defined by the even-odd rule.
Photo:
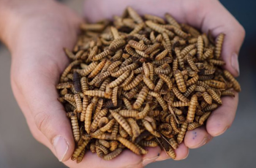
[[[202,126],[222,96],[241,91],[221,67],[224,34],[214,40],[170,14],[140,17],[131,7],[80,28],[56,86],[78,163],[86,150],[110,160],[125,148],[140,155],[156,146],[175,159],[186,131]]]

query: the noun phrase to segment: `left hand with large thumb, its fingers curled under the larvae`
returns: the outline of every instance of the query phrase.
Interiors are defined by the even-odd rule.
[[[0,0],[0,8],[4,6],[1,5]],[[0,27],[0,37],[12,53],[12,90],[34,138],[68,167],[119,168],[141,164],[142,157],[129,150],[112,161],[90,152],[80,164],[70,160],[75,142],[64,107],[57,101],[56,84],[69,64],[63,47],[71,50],[75,45],[82,20],[67,7],[50,0],[26,0],[22,4],[17,0],[4,7],[6,26]],[[161,150],[149,151],[144,158]]]

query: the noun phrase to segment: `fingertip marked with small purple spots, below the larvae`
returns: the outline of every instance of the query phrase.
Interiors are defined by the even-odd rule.
[[[188,148],[200,148],[203,145],[206,145],[211,141],[212,137],[206,131],[205,126],[201,126],[192,131],[187,131],[184,143]]]

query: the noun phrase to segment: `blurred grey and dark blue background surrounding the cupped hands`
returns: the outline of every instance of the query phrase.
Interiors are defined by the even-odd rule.
[[[239,57],[242,92],[236,119],[225,134],[199,149],[190,150],[184,161],[161,161],[153,167],[241,168],[255,167],[256,151],[256,1],[220,0],[246,29]],[[83,0],[62,0],[82,12]],[[0,167],[65,167],[32,137],[10,87],[10,53],[0,44]]]

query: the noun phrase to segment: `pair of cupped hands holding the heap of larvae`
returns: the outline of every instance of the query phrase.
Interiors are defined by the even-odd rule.
[[[84,16],[91,22],[121,15],[131,6],[141,15],[163,17],[170,12],[179,23],[188,23],[214,37],[224,33],[222,58],[225,69],[239,75],[238,52],[244,41],[244,28],[217,0],[87,0]],[[63,47],[75,45],[83,18],[72,9],[53,0],[0,0],[0,37],[12,53],[11,83],[17,102],[34,138],[47,146],[68,167],[144,167],[169,157],[159,147],[148,148],[138,156],[125,150],[118,158],[104,161],[86,153],[80,164],[69,158],[75,148],[69,119],[57,101],[56,84],[69,60]],[[187,158],[189,148],[199,148],[223,134],[232,124],[238,105],[236,97],[225,97],[222,106],[212,112],[206,126],[187,131],[176,150],[176,160]],[[195,137],[195,134],[197,135]]]

